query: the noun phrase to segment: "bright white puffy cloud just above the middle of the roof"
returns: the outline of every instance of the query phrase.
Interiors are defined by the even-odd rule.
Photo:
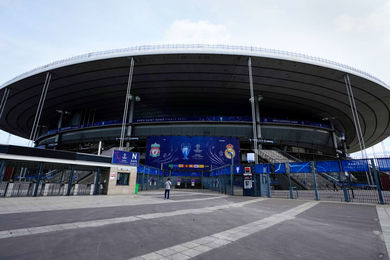
[[[221,24],[209,21],[176,20],[164,36],[166,43],[228,43],[230,34]]]

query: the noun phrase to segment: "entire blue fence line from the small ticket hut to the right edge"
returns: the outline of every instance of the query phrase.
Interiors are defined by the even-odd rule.
[[[248,167],[250,174],[243,170]],[[226,165],[198,172],[138,168],[141,190],[163,188],[168,177],[176,189],[227,195],[390,203],[390,158]]]

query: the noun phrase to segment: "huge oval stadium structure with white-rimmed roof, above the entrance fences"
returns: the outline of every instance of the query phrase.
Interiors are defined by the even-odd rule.
[[[0,97],[0,128],[37,147],[97,153],[123,146],[141,162],[163,151],[155,144],[167,138],[235,140],[225,159],[234,151],[246,161],[261,150],[345,158],[390,135],[384,82],[336,62],[253,47],[89,53],[24,73],[3,84]]]

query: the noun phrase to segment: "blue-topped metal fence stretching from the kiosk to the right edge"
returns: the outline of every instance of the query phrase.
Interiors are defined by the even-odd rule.
[[[390,158],[260,164],[255,169],[268,165],[272,170],[257,174],[269,177],[270,197],[390,203]]]

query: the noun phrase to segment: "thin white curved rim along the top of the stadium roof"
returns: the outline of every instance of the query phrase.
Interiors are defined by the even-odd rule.
[[[356,76],[373,81],[390,90],[390,86],[388,86],[385,82],[381,81],[380,79],[372,76],[371,74],[331,60],[314,57],[306,54],[289,52],[289,51],[281,51],[276,49],[238,46],[238,45],[211,45],[211,44],[140,45],[140,46],[133,46],[133,47],[122,48],[122,49],[90,52],[82,55],[73,56],[67,59],[58,60],[49,63],[47,65],[40,66],[30,71],[27,71],[5,82],[3,85],[0,86],[0,89],[5,88],[10,84],[15,83],[16,81],[33,76],[35,74],[39,74],[59,67],[74,65],[83,62],[109,59],[109,58],[127,57],[127,56],[141,56],[141,55],[155,55],[155,54],[188,54],[188,53],[243,55],[243,56],[254,56],[254,57],[257,56],[257,57],[276,58],[276,59],[302,62],[302,63],[312,64],[312,65],[332,68],[339,71],[344,71],[346,73],[351,73]]]

